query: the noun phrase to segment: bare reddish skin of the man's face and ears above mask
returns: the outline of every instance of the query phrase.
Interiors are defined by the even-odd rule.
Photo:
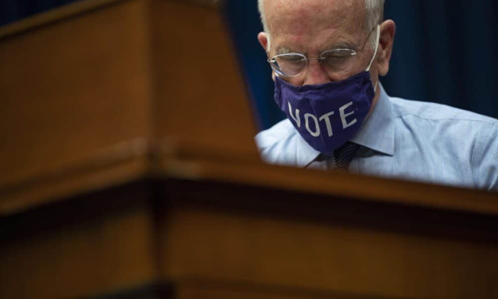
[[[260,32],[257,38],[268,58],[282,48],[302,53],[308,58],[319,57],[321,52],[337,44],[348,44],[360,51],[372,29],[367,28],[364,0],[265,0],[264,9],[271,34],[269,51],[267,34]],[[395,24],[392,20],[381,23],[377,54],[370,69],[373,84],[378,81],[379,75],[385,76],[389,71],[394,33]],[[375,31],[372,35],[375,38]],[[373,52],[370,42],[367,42],[358,56],[356,66],[348,73],[328,74],[318,60],[310,60],[303,74],[282,79],[297,86],[344,80],[365,71]],[[371,112],[379,94],[377,88]]]

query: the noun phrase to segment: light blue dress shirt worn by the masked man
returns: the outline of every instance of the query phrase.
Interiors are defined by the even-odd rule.
[[[379,85],[380,86],[380,85]],[[329,169],[286,119],[256,135],[263,160]],[[389,97],[351,140],[349,171],[498,191],[498,120],[446,105]]]

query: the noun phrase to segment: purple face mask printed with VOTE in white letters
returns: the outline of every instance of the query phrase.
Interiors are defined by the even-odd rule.
[[[365,72],[343,81],[294,86],[275,77],[275,102],[313,149],[331,154],[360,130],[375,96],[369,71],[376,52]]]

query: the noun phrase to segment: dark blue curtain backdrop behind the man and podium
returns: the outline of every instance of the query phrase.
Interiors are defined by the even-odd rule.
[[[75,0],[1,0],[0,25]],[[260,129],[283,119],[273,103],[256,0],[228,0],[226,17]],[[397,32],[387,93],[498,118],[498,1],[386,0],[385,17]]]

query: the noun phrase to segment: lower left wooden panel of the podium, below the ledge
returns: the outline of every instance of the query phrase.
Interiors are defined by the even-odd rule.
[[[87,298],[153,281],[147,202],[147,190],[122,188],[1,219],[0,297]]]

